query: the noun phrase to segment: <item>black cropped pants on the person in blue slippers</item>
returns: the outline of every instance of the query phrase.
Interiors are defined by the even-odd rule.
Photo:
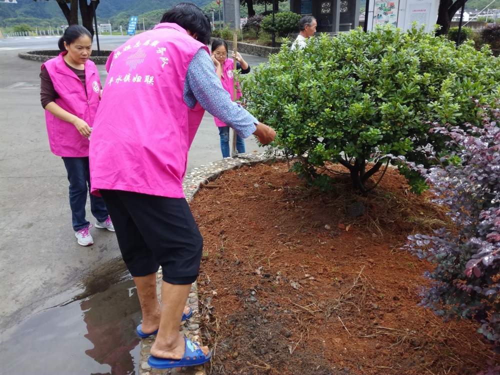
[[[122,190],[99,192],[132,276],[155,273],[161,265],[166,282],[190,284],[196,280],[203,238],[184,198]]]

